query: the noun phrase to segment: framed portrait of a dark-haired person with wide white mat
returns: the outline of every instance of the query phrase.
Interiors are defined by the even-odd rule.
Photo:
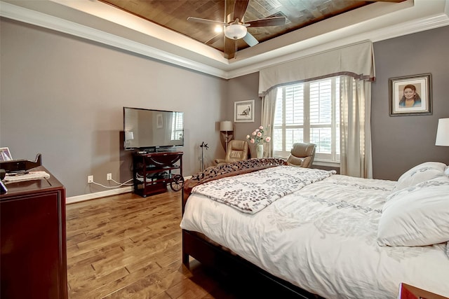
[[[389,78],[390,116],[431,114],[431,74]]]

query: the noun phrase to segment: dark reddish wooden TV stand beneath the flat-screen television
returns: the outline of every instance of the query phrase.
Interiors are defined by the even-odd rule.
[[[184,186],[182,155],[182,151],[133,153],[134,193],[147,197],[166,192],[168,183],[172,190],[181,190]]]

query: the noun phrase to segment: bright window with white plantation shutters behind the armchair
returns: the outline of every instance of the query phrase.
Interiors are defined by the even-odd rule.
[[[340,162],[340,78],[277,89],[274,156],[287,158],[295,142],[316,144],[315,160]]]

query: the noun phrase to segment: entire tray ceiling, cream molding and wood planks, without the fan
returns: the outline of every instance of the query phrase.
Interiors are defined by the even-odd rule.
[[[287,24],[249,28],[260,43],[243,44],[234,58],[227,59],[219,41],[206,45],[214,34],[208,24],[187,22],[189,16],[222,20],[224,0],[112,1],[116,0],[0,0],[0,16],[221,78],[351,43],[449,25],[449,0],[249,0],[245,20],[282,14]],[[130,13],[125,11],[131,10],[128,6],[117,7],[121,4],[142,9]]]

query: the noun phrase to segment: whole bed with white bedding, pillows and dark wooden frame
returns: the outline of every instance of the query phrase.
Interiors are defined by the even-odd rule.
[[[401,283],[449,297],[449,167],[398,181],[264,158],[185,182],[182,261],[239,265],[298,298],[397,298]]]

